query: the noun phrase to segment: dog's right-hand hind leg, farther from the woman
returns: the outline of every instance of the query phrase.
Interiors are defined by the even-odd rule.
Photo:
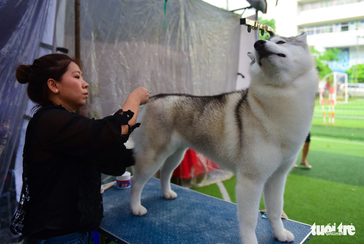
[[[177,193],[171,190],[171,177],[173,171],[181,163],[186,150],[186,148],[179,148],[174,154],[167,158],[160,170],[162,193],[166,199],[177,198]]]

